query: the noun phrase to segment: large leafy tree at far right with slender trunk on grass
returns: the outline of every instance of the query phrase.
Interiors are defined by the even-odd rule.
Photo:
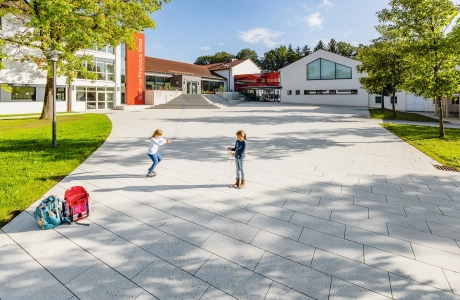
[[[401,40],[409,66],[403,87],[436,100],[444,137],[441,99],[460,90],[459,7],[450,0],[391,0],[389,6],[377,14],[376,28],[386,39]]]

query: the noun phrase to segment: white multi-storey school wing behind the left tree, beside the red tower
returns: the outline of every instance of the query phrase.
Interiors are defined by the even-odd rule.
[[[3,17],[0,34],[6,36],[14,33],[14,30],[21,30],[19,24],[15,24],[14,19],[10,17]],[[101,76],[103,79],[95,81],[75,79],[68,86],[66,78],[59,76],[56,110],[58,112],[86,111],[110,109],[119,105],[122,86],[120,48],[117,47],[113,51],[110,48],[104,51],[102,49],[84,51],[94,56],[96,70],[101,71],[101,74],[104,73],[104,76]],[[39,56],[40,51],[26,47],[21,47],[18,51],[16,47],[8,47],[8,45],[5,50],[11,60],[5,61],[5,69],[0,70],[0,84],[10,85],[13,92],[0,91],[0,114],[40,113],[45,98],[46,73],[39,70],[34,63],[20,62],[24,54]],[[85,88],[83,98],[82,88]]]

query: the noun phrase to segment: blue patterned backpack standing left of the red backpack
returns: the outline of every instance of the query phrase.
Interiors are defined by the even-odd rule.
[[[51,229],[63,222],[70,223],[66,217],[64,202],[56,196],[48,196],[35,209],[34,213],[35,222],[41,229]]]

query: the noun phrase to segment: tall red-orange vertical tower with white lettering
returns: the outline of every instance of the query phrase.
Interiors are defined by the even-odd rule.
[[[136,33],[137,50],[126,47],[126,104],[145,104],[145,36]]]

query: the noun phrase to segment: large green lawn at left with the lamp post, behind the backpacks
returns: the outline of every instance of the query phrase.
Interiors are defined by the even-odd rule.
[[[0,120],[0,227],[79,166],[111,129],[103,114],[60,116],[53,149],[51,121]]]

